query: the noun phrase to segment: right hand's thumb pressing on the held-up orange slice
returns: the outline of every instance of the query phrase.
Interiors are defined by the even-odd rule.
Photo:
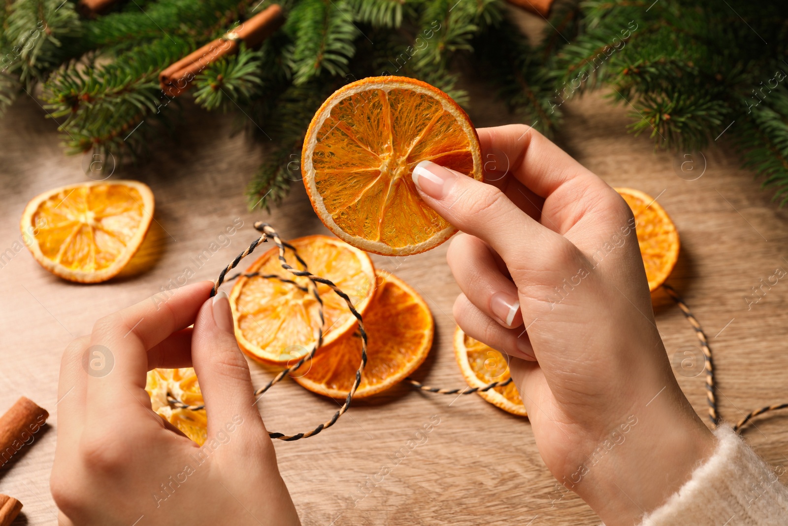
[[[563,241],[558,239],[563,236],[541,226],[495,186],[432,161],[419,162],[411,177],[434,211],[463,232],[487,241],[504,261],[544,252],[545,241]]]

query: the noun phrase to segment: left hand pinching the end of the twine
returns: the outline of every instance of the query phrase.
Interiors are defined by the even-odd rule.
[[[209,298],[212,285],[108,315],[66,349],[50,479],[59,524],[299,524],[227,296]],[[203,447],[153,412],[145,392],[147,371],[192,364],[207,408]]]

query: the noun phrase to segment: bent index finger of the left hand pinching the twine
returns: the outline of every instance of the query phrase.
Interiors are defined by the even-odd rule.
[[[88,371],[87,405],[103,412],[110,409],[107,405],[117,409],[117,401],[129,394],[142,400],[139,391],[145,389],[147,350],[194,323],[213,285],[199,282],[159,293],[99,319],[93,326],[91,349],[103,358],[105,368]]]

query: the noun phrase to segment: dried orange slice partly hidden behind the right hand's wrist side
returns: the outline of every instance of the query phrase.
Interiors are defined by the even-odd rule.
[[[632,188],[615,188],[630,205],[635,216],[637,244],[640,245],[649,290],[660,288],[678,259],[678,232],[667,212],[651,196]]]

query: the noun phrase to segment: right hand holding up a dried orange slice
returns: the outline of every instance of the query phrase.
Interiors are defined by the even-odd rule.
[[[626,202],[524,125],[479,129],[485,181],[413,179],[462,230],[448,263],[466,334],[511,356],[545,464],[608,526],[659,507],[709,457],[654,323]]]

